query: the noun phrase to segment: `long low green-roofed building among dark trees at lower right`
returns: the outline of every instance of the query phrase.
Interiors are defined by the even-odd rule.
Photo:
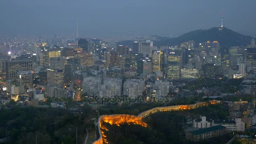
[[[202,141],[213,137],[221,136],[227,133],[226,127],[216,125],[209,128],[203,128],[197,131],[190,131],[186,133],[186,139],[190,141]]]

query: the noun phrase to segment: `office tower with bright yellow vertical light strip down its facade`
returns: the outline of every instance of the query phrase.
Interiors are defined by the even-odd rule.
[[[152,72],[164,72],[164,51],[152,51]]]

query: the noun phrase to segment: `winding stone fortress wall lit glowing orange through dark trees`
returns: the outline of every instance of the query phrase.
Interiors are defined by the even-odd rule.
[[[199,102],[196,104],[189,105],[176,105],[176,106],[168,106],[168,107],[155,107],[153,109],[149,109],[145,112],[140,113],[138,116],[135,115],[101,115],[98,120],[98,130],[99,130],[99,139],[94,141],[93,144],[103,144],[107,143],[106,136],[104,135],[104,131],[109,131],[107,128],[101,125],[102,122],[109,123],[111,125],[122,125],[125,123],[133,123],[137,125],[141,125],[147,127],[147,123],[142,121],[143,117],[147,117],[148,115],[154,114],[156,112],[166,112],[166,111],[179,111],[179,110],[187,110],[187,109],[196,109],[198,107],[208,106],[209,104],[219,104],[221,101],[205,101]]]

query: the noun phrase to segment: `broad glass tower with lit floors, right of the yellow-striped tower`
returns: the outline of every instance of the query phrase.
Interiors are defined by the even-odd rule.
[[[179,54],[170,53],[167,57],[167,72],[168,78],[179,78],[181,69],[182,59]]]

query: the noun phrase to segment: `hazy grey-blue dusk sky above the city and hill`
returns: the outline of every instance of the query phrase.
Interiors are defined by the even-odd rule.
[[[223,14],[221,9],[224,8]],[[0,34],[181,35],[224,26],[256,37],[256,0],[0,0]]]

